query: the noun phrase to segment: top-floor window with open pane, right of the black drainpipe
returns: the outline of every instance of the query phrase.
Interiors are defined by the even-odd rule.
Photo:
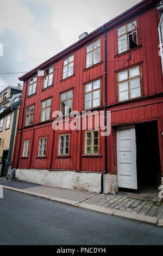
[[[136,20],[118,28],[118,53],[130,50],[137,45]]]

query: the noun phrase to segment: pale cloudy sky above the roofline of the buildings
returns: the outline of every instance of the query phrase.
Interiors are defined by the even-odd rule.
[[[139,2],[0,0],[0,73],[28,72]],[[21,75],[0,74],[0,91]]]

